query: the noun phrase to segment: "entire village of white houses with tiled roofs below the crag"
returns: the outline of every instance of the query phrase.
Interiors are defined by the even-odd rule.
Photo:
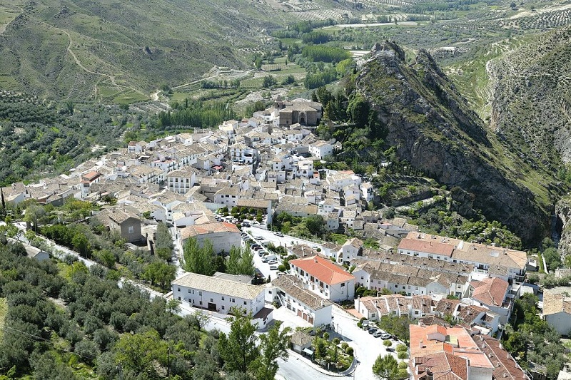
[[[343,148],[316,135],[322,116],[320,103],[276,98],[270,108],[228,120],[218,130],[131,141],[69,175],[14,183],[2,188],[2,199],[12,206],[29,199],[54,206],[68,198],[99,203],[103,207],[93,217],[133,249],[150,252],[157,222],[163,222],[170,227],[178,261],[191,239],[200,246],[210,242],[222,255],[247,244],[256,252],[256,277],[266,284],[251,276],[206,276],[179,268],[164,297],[213,317],[243,307],[261,332],[273,320],[305,328],[292,337],[292,348],[302,358],[315,359],[310,334],[316,329],[343,337],[340,313],[363,327],[358,331],[362,338],[351,337],[355,356],[365,350],[359,347],[363,339],[373,339],[375,352],[397,358],[382,340],[374,341],[385,332],[364,330],[375,329],[373,324],[385,316],[408,317],[415,321],[410,343],[395,334],[385,340],[409,343],[408,373],[414,379],[540,376],[540,370],[517,365],[497,339],[510,322],[515,300],[537,293],[537,287],[525,283],[526,273],[537,270],[535,262],[522,251],[424,234],[404,219],[369,210],[375,197],[370,182],[349,170],[320,165]],[[251,217],[238,220],[228,212],[233,209]],[[272,232],[282,213],[320,215],[325,229],[358,232],[378,248],[365,247],[358,237],[339,245]],[[549,297],[555,300],[549,307],[544,300],[543,317],[567,334],[569,302],[563,292]],[[353,364],[350,369],[355,370]]]

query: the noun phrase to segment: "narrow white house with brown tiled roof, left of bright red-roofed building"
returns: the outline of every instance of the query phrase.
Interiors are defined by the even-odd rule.
[[[329,299],[323,299],[304,289],[303,282],[297,277],[284,274],[272,282],[270,290],[273,300],[290,309],[298,317],[313,326],[331,323],[331,307]]]

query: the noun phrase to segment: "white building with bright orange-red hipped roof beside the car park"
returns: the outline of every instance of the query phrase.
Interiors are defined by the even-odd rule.
[[[355,297],[355,277],[343,267],[319,256],[290,261],[290,273],[301,279],[310,292],[332,301]]]

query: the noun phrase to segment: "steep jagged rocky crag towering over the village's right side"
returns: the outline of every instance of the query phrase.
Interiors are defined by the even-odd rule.
[[[524,242],[549,227],[549,205],[517,181],[530,170],[502,147],[426,51],[411,64],[395,43],[378,43],[360,71],[357,91],[387,126],[399,157],[449,187],[474,195],[474,207]]]

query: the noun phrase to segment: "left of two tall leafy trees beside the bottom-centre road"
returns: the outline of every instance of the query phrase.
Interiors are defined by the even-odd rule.
[[[233,314],[228,318],[230,333],[220,334],[218,351],[228,371],[246,373],[260,354],[256,326],[252,324],[251,315],[244,315],[243,309],[233,309]]]

